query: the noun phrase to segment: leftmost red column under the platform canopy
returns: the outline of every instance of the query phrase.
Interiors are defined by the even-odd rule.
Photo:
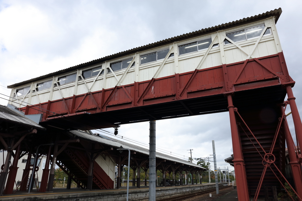
[[[8,178],[4,190],[4,194],[12,194],[14,190],[14,185],[15,185],[15,180],[17,176],[17,171],[18,171],[18,161],[19,161],[19,155],[20,155],[20,149],[21,149],[21,144],[18,145],[18,148],[15,152],[14,156],[14,161],[10,167],[9,173],[8,173]]]

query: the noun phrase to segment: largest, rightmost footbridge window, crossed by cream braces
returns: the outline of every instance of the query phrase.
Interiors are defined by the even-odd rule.
[[[234,42],[251,40],[251,39],[258,38],[261,35],[264,28],[265,25],[262,24],[260,26],[258,25],[255,27],[246,28],[244,30],[227,33],[226,36]],[[271,35],[271,30],[269,28],[265,31],[263,36],[268,36],[268,35]],[[225,39],[224,45],[228,45],[228,44],[231,44],[231,42]]]

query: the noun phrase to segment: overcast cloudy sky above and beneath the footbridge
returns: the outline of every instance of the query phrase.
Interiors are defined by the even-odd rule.
[[[0,0],[0,93],[9,95],[6,86],[14,83],[279,7],[278,34],[302,114],[302,1]],[[149,122],[122,125],[119,135],[148,144]],[[228,113],[157,121],[156,137],[157,148],[185,159],[187,149],[193,158],[213,154],[215,140],[218,167],[227,166],[232,153]]]

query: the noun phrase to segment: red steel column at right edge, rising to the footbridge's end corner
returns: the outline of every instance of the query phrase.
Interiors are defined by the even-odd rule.
[[[288,96],[289,105],[291,106],[291,115],[293,115],[293,121],[294,121],[299,147],[302,147],[302,123],[295,101],[296,98],[294,97],[293,90],[291,89],[290,85],[286,86],[286,92]],[[300,155],[300,159],[301,159],[301,155]]]

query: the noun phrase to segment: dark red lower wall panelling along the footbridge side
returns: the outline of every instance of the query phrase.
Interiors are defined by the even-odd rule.
[[[281,63],[284,62],[284,59],[280,61],[279,55],[271,55],[258,59],[265,66],[267,66],[269,69],[276,73],[280,72],[282,74],[282,69],[286,69],[286,64]],[[185,90],[185,93],[181,97],[177,97],[176,94],[180,93],[184,89],[185,85],[188,83],[188,80],[190,79],[194,71],[178,74],[179,79],[177,78],[177,81],[175,81],[175,75],[155,79],[154,82],[149,86],[148,90],[146,90],[146,94],[140,103],[137,103],[137,101],[139,97],[142,96],[150,80],[125,85],[124,87],[131,97],[127,95],[123,87],[117,87],[114,93],[112,94],[110,100],[108,100],[107,104],[104,105],[104,109],[102,110],[97,109],[97,106],[99,105],[99,107],[102,107],[102,105],[108,99],[114,88],[93,92],[92,94],[97,104],[89,93],[87,95],[81,94],[78,96],[67,97],[65,98],[65,100],[68,105],[69,111],[73,113],[82,111],[89,111],[95,113],[137,107],[141,105],[170,102],[177,99],[188,99],[201,96],[222,94],[226,92],[226,86],[230,87],[230,90],[233,90],[233,84],[235,84],[235,91],[280,84],[278,81],[278,77],[276,77],[270,71],[266,70],[263,66],[261,66],[261,64],[256,62],[254,59],[250,59],[247,62],[243,71],[239,72],[243,66],[243,63],[244,61],[236,62],[234,64],[227,64],[225,65],[225,67],[222,67],[221,65],[217,67],[198,70],[195,76],[192,77],[188,88]],[[240,76],[237,82],[234,83],[234,79],[239,73]],[[225,78],[229,80],[224,80]],[[229,82],[226,83],[227,81]],[[251,82],[255,82],[256,84],[252,84]],[[176,85],[179,86],[179,88],[176,87]],[[85,99],[83,99],[84,97]],[[132,102],[132,100],[134,101]],[[47,103],[42,103],[41,105],[42,108],[47,108]],[[40,107],[39,104],[37,104],[37,106]],[[58,114],[62,114],[63,112],[67,113],[68,111],[63,99],[50,102],[50,105],[48,107],[50,111],[53,111]],[[25,107],[21,108],[21,110],[25,111]],[[41,113],[43,112],[34,110],[33,107],[30,107],[28,109],[28,114]]]

